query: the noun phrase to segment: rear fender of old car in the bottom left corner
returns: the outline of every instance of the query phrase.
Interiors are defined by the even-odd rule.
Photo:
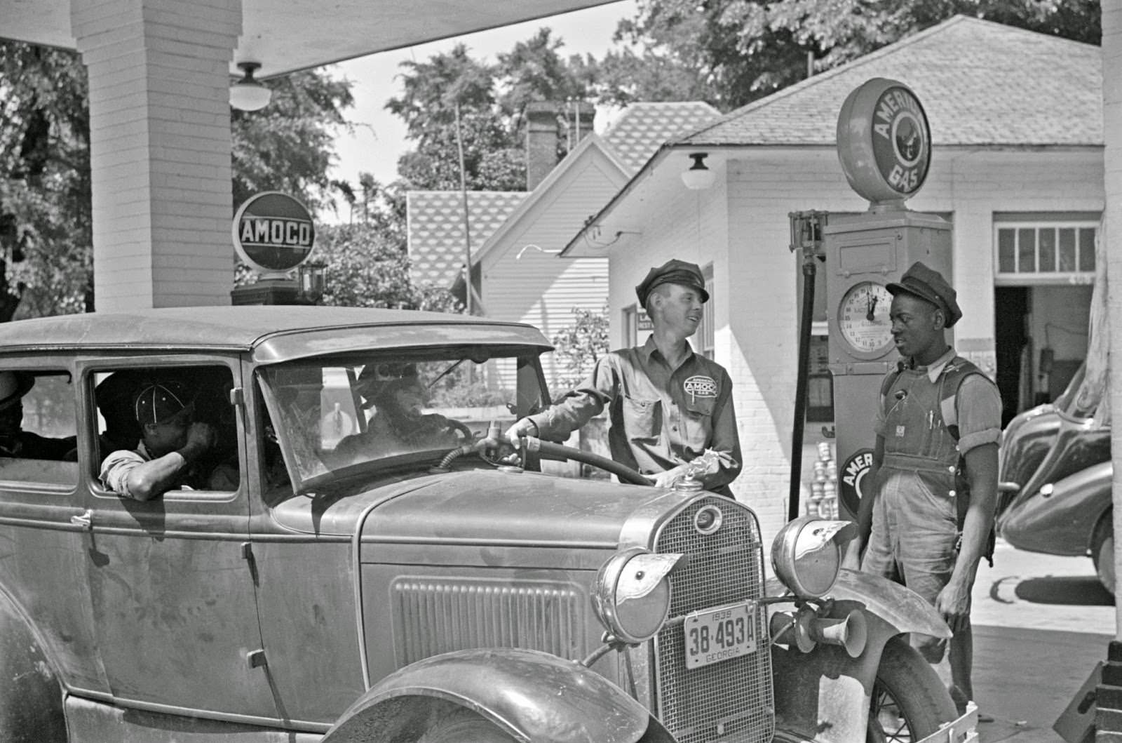
[[[63,686],[31,622],[0,590],[0,741],[65,741]]]

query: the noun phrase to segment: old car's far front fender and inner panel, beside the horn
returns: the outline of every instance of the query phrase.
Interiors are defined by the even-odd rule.
[[[829,597],[826,616],[864,615],[865,648],[850,658],[838,645],[809,653],[772,645],[775,725],[820,741],[863,741],[885,643],[905,632],[949,637],[950,630],[919,594],[879,576],[842,570]]]

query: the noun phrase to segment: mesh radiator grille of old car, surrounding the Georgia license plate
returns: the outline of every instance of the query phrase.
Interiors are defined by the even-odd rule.
[[[693,516],[707,504],[724,514],[720,529],[701,534]],[[691,503],[665,523],[657,552],[683,552],[671,575],[669,622],[655,637],[655,708],[680,743],[771,741],[775,727],[766,612],[756,613],[756,652],[686,668],[681,617],[698,609],[763,597],[763,549],[751,511],[714,496]]]

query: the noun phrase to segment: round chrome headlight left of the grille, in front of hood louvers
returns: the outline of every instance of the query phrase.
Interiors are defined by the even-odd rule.
[[[617,640],[650,640],[670,613],[670,571],[683,554],[657,554],[641,547],[618,552],[596,574],[592,611]]]

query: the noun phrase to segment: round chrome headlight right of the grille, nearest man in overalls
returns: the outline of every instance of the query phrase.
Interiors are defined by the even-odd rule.
[[[775,534],[772,568],[800,598],[818,598],[834,587],[842,568],[842,545],[856,532],[852,521],[801,516]]]

